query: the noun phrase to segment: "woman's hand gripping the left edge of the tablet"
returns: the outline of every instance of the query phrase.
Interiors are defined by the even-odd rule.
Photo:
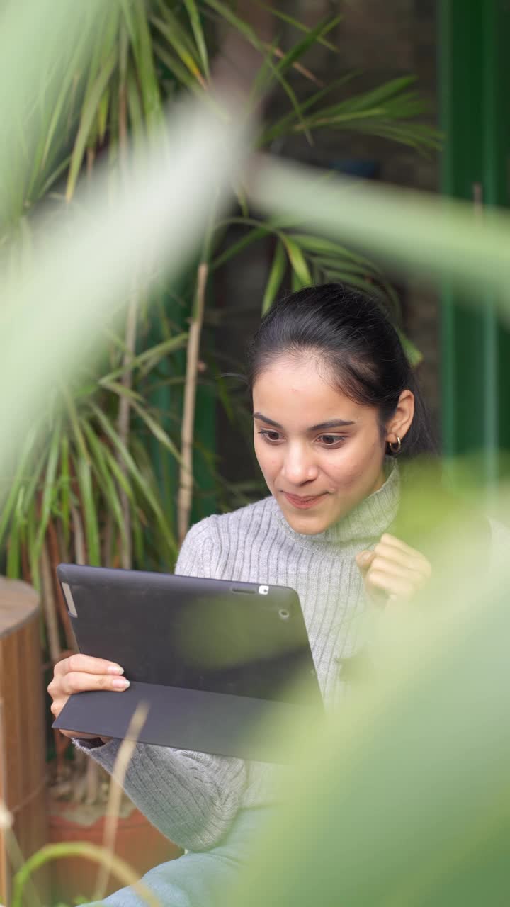
[[[122,677],[123,668],[104,658],[91,658],[89,655],[71,655],[58,661],[54,666],[54,677],[48,685],[48,693],[53,699],[52,713],[57,718],[72,693],[83,693],[90,689],[109,689],[122,693],[129,687],[129,680]],[[93,739],[94,734],[78,734],[74,731],[61,731],[68,737]],[[110,737],[102,737],[106,743]]]

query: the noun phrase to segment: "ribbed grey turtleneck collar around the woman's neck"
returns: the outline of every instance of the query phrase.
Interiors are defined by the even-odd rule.
[[[273,498],[275,516],[283,530],[296,541],[316,544],[317,542],[335,542],[348,544],[349,542],[378,538],[387,531],[387,527],[397,516],[400,500],[400,473],[396,461],[387,457],[387,480],[377,492],[374,492],[361,501],[347,516],[343,517],[325,532],[316,535],[305,535],[295,532],[289,526],[279,504]]]

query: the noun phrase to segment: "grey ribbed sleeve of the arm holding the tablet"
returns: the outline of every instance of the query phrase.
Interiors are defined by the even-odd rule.
[[[210,519],[188,532],[175,572],[181,576],[218,578],[220,539]],[[121,741],[103,746],[74,740],[110,774]],[[187,750],[138,744],[123,787],[142,813],[175,844],[203,851],[219,843],[240,809],[248,778],[242,759],[209,756]]]

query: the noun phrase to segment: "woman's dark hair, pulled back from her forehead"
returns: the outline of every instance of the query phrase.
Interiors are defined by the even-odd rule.
[[[402,438],[402,453],[412,457],[436,450],[427,407],[397,330],[374,297],[330,283],[281,298],[250,343],[250,390],[277,356],[302,353],[318,356],[351,400],[378,409],[381,434],[408,388],[415,396],[415,415]]]

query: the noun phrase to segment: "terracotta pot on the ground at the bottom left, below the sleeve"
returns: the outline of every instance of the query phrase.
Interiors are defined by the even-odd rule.
[[[127,812],[127,811],[126,811]],[[49,839],[58,842],[86,841],[103,844],[103,806],[86,806],[51,800],[48,816]],[[181,856],[182,851],[172,844],[134,806],[119,818],[115,853],[142,876],[159,863]],[[77,897],[92,900],[95,893],[98,866],[80,857],[56,860],[52,864],[52,891],[55,900],[73,903]],[[123,888],[123,883],[111,877],[105,894]]]

